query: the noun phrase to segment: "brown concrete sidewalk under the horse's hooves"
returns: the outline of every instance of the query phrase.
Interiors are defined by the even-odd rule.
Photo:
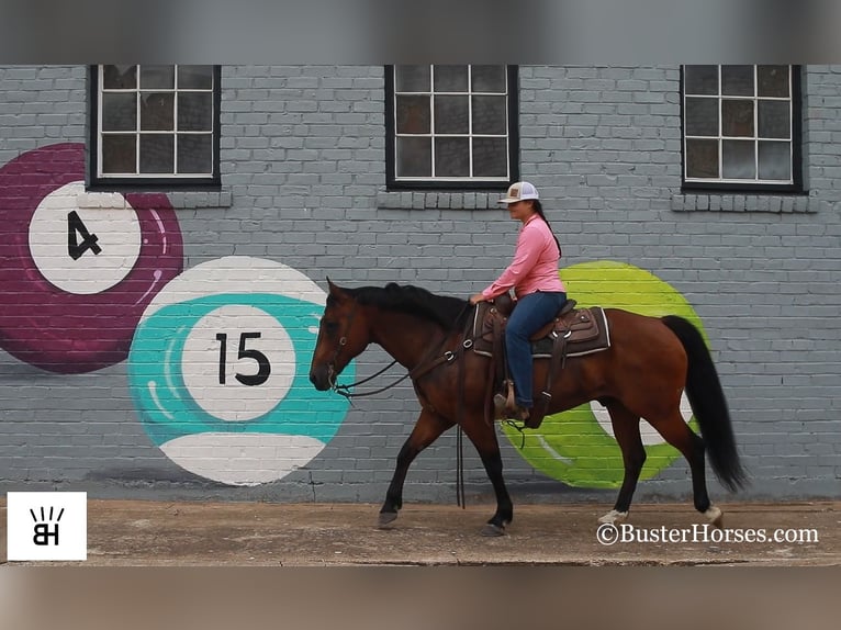
[[[485,538],[491,505],[407,505],[383,530],[370,504],[89,500],[85,564],[841,565],[841,502],[719,504],[725,530],[705,526],[688,503],[635,505],[632,527],[618,532],[626,539],[604,544],[597,518],[609,507],[515,505],[507,535]],[[0,499],[0,563],[5,513]]]

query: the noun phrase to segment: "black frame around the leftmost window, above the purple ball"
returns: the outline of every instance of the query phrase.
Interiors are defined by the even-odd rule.
[[[177,66],[178,64],[172,64]],[[212,64],[208,64],[212,65]],[[99,91],[100,72],[102,65],[89,66],[89,92],[88,92],[88,173],[86,188],[91,191],[125,192],[125,191],[220,191],[222,177],[220,172],[220,138],[221,138],[221,106],[222,106],[222,66],[213,66],[213,149],[212,167],[210,177],[156,177],[156,175],[136,177],[109,177],[99,176]]]

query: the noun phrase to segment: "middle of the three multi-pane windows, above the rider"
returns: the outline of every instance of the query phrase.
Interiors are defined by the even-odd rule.
[[[385,93],[390,189],[518,179],[516,67],[389,66]]]

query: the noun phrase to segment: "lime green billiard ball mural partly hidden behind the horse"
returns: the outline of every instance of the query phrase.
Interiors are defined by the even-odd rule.
[[[560,270],[569,296],[579,307],[603,306],[662,317],[680,315],[704,334],[695,310],[674,288],[632,265],[599,260]],[[697,423],[684,394],[681,413],[696,431]],[[568,485],[615,488],[621,485],[624,465],[607,409],[593,401],[560,414],[547,416],[539,429],[519,434],[506,425],[503,431],[517,452],[535,469]],[[640,479],[651,479],[670,466],[680,452],[660,434],[640,423],[647,459]],[[523,445],[523,449],[520,449]]]

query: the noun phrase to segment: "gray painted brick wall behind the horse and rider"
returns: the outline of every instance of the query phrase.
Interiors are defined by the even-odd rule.
[[[467,296],[507,263],[516,226],[496,193],[386,191],[381,67],[224,66],[222,81],[223,190],[170,194],[187,269],[253,256],[322,286],[329,275]],[[806,67],[803,92],[808,195],[685,195],[677,67],[520,67],[520,172],[540,190],[563,262],[635,265],[695,307],[751,473],[743,496],[756,499],[837,496],[841,477],[839,68]],[[87,98],[87,68],[0,68],[0,164],[85,143]],[[358,375],[388,360],[369,349]],[[0,488],[377,503],[418,408],[411,386],[359,401],[305,469],[234,488],[181,470],[150,442],[124,363],[58,376],[0,352]],[[613,502],[614,491],[536,472],[501,441],[515,498]],[[418,458],[406,500],[455,499],[455,447],[445,435]],[[473,500],[490,499],[470,447],[466,466]],[[637,496],[689,492],[679,460]]]

